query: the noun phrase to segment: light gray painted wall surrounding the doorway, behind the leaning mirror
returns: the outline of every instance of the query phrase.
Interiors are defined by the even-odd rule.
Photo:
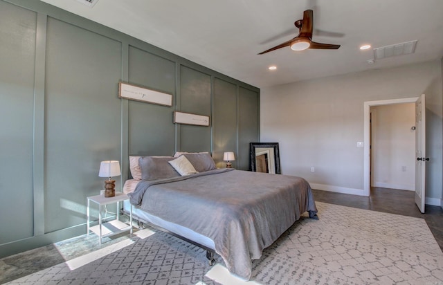
[[[363,192],[363,104],[426,95],[426,203],[442,201],[442,62],[424,62],[262,89],[260,136],[280,143],[282,173],[316,189]],[[315,167],[315,172],[311,172]]]

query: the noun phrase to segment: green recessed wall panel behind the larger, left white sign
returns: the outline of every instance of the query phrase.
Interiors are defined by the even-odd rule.
[[[129,83],[173,95],[172,107],[129,100],[129,155],[174,154],[175,78],[174,62],[129,46]]]

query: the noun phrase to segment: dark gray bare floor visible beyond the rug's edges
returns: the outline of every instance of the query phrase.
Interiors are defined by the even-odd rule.
[[[314,198],[316,201],[325,203],[425,219],[443,250],[443,210],[437,206],[426,205],[426,213],[420,213],[415,205],[414,192],[372,188],[371,196],[366,197],[314,190]],[[128,238],[128,235],[108,237],[104,240],[102,247]],[[84,235],[5,257],[0,259],[0,284],[63,263],[99,248],[96,235]]]

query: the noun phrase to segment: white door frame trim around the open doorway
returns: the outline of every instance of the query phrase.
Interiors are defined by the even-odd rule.
[[[366,101],[363,103],[363,196],[370,196],[371,157],[370,157],[370,109],[372,106],[392,105],[402,103],[415,103],[419,97],[399,98],[390,100]]]

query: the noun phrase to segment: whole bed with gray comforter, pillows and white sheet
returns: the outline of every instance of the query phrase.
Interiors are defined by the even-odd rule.
[[[129,160],[133,179],[124,192],[135,219],[198,244],[210,260],[216,252],[242,279],[302,213],[318,219],[311,187],[300,177],[217,169],[208,153]]]

